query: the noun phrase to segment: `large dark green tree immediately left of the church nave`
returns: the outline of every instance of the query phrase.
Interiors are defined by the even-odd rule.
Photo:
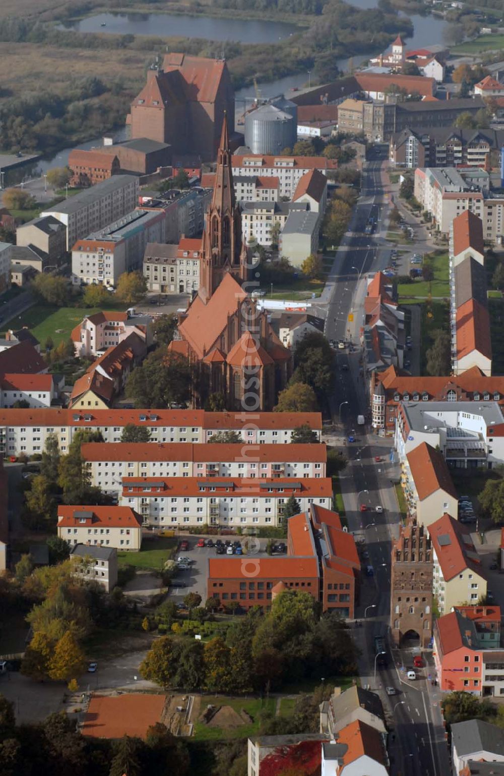
[[[171,404],[186,404],[192,385],[192,369],[178,353],[161,346],[133,369],[126,383],[126,397],[136,407],[164,409]]]

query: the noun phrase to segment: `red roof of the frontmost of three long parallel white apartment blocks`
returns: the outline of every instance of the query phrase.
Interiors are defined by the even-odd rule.
[[[201,483],[209,483],[208,487],[214,487],[215,491],[200,490]],[[143,497],[158,496],[163,494],[172,494],[181,496],[211,496],[212,494],[233,496],[264,496],[264,497],[285,497],[295,494],[296,497],[322,497],[331,498],[333,496],[332,480],[330,477],[272,477],[266,479],[257,479],[255,477],[149,477],[149,483],[153,483],[151,490],[143,490],[145,486],[145,477],[123,477],[123,496],[131,495],[129,488],[133,488],[133,493],[138,490]],[[295,487],[295,483],[300,483],[301,487]],[[268,487],[272,487],[270,492]],[[279,490],[283,488],[283,490]]]

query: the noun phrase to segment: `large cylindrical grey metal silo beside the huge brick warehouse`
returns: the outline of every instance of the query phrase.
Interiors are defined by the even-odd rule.
[[[297,123],[293,116],[272,105],[262,105],[245,116],[245,145],[253,154],[279,154],[295,144]]]

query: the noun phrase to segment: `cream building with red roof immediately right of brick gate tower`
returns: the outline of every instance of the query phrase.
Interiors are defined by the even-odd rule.
[[[467,603],[477,604],[486,595],[487,581],[471,533],[450,514],[444,514],[429,525],[429,535],[433,594],[440,615]]]

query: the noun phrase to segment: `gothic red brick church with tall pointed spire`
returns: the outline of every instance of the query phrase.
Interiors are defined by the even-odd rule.
[[[229,410],[271,410],[292,374],[292,352],[245,290],[251,253],[242,239],[225,116],[202,237],[199,291],[179,317],[180,339],[168,346],[198,365],[193,407],[204,407],[211,393],[223,393]]]

